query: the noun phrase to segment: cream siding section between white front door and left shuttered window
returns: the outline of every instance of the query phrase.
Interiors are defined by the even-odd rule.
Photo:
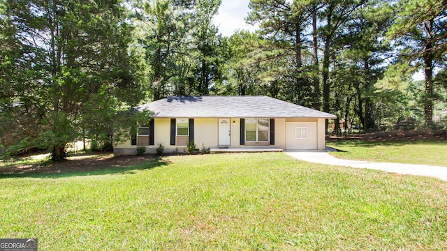
[[[194,119],[194,143],[198,149],[217,146],[218,119]]]

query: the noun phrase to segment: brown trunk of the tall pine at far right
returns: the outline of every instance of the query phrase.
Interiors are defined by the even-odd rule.
[[[425,23],[425,32],[427,33],[427,45],[425,45],[424,66],[424,123],[425,126],[431,126],[433,123],[433,19]]]

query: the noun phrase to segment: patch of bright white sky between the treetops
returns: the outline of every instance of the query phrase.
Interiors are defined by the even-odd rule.
[[[222,0],[214,24],[219,26],[222,36],[231,36],[237,30],[254,31],[257,26],[246,24],[244,18],[249,13],[249,0]]]

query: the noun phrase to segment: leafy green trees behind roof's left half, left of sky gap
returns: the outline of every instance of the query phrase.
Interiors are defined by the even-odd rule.
[[[212,24],[220,3],[156,0],[134,4],[135,47],[144,50],[153,100],[207,95],[221,81],[225,43]]]

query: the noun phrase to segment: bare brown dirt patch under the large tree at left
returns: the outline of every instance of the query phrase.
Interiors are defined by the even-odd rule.
[[[33,156],[29,156],[29,158],[33,158]],[[145,162],[154,162],[156,160],[159,160],[159,156],[157,155],[122,155],[115,157],[113,153],[90,153],[68,157],[68,159],[63,162],[51,162],[50,160],[47,160],[38,164],[8,165],[8,167],[0,168],[0,177],[119,169]]]

